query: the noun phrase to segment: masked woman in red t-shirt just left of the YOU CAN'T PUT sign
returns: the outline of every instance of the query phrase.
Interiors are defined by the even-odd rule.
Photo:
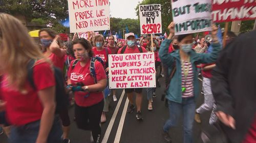
[[[104,69],[105,69],[106,74],[108,75],[108,73],[109,73],[109,54],[111,54],[111,50],[109,48],[102,47],[103,42],[104,42],[103,36],[96,35],[93,40],[93,44],[96,47],[93,47],[92,51],[94,53],[93,56],[98,56],[99,58],[101,58],[103,60]],[[110,101],[109,101],[108,97],[104,98],[104,108],[103,108],[103,112],[102,112],[101,120],[100,120],[101,123],[106,122],[105,112],[109,111],[109,102]]]

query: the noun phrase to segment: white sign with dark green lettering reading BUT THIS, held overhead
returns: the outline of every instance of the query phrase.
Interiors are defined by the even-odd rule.
[[[211,31],[211,0],[172,0],[172,11],[175,35]]]

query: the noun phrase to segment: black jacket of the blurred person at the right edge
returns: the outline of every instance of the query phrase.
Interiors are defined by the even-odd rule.
[[[217,110],[236,120],[236,130],[224,124],[229,142],[240,143],[256,113],[256,31],[245,33],[221,52],[212,71],[211,88]]]

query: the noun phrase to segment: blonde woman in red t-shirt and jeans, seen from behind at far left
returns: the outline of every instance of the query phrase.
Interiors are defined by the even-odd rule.
[[[54,115],[55,78],[51,64],[32,42],[22,22],[8,14],[0,14],[0,21],[0,103],[5,103],[0,105],[0,111],[6,111],[12,125],[9,142],[61,142],[59,118]],[[35,89],[28,80],[32,60]]]

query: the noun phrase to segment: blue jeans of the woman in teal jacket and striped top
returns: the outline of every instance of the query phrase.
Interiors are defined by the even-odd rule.
[[[168,101],[169,119],[163,126],[163,130],[168,132],[170,127],[177,126],[180,115],[183,112],[184,143],[192,143],[192,128],[195,116],[196,102],[194,97],[182,98],[182,103]]]

